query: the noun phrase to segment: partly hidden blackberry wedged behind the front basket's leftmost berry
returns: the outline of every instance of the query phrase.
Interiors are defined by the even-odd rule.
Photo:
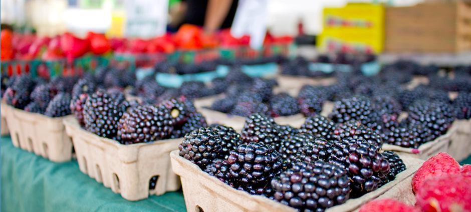
[[[229,153],[232,150],[235,150],[239,145],[243,143],[241,139],[241,135],[232,127],[226,127],[222,125],[214,126],[213,130],[219,134],[221,138],[221,147],[222,147],[222,155],[224,159],[229,157]]]

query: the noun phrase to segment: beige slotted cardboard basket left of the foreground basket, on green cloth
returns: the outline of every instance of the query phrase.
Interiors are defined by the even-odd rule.
[[[64,120],[74,143],[80,171],[129,201],[162,195],[180,188],[169,153],[178,149],[180,139],[123,145],[82,129],[75,118]],[[155,188],[149,188],[152,178]]]

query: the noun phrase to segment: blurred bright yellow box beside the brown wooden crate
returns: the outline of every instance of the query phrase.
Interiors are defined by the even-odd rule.
[[[384,6],[349,3],[324,8],[324,30],[317,36],[320,51],[379,53],[384,43]]]

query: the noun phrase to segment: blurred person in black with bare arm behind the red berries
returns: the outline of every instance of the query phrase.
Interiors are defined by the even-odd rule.
[[[170,8],[169,26],[177,30],[184,23],[202,26],[206,33],[230,28],[239,0],[181,0]]]

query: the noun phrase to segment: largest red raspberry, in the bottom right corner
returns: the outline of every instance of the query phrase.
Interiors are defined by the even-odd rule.
[[[415,195],[422,212],[471,211],[471,177],[451,174],[427,179]]]

